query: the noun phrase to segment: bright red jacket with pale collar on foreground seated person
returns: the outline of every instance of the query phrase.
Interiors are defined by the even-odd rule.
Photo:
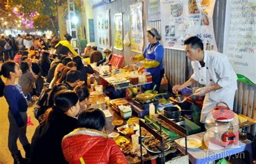
[[[77,128],[65,135],[62,151],[69,163],[128,163],[114,140],[95,129]]]

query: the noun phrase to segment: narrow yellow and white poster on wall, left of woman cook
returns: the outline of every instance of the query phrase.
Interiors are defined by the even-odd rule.
[[[114,49],[123,50],[123,13],[114,14]]]

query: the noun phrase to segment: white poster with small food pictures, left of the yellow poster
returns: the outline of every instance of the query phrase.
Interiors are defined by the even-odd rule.
[[[109,10],[107,10],[106,13],[100,13],[97,18],[97,39],[99,47],[102,49],[110,48],[109,25]]]

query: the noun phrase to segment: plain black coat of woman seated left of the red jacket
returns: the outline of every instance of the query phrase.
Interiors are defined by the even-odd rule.
[[[77,119],[53,110],[48,120],[36,128],[31,143],[32,164],[68,163],[62,153],[63,136],[77,127]]]

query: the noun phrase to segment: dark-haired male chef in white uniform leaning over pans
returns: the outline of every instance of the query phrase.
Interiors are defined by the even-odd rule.
[[[212,112],[219,101],[224,101],[233,110],[237,75],[227,56],[215,51],[204,51],[201,39],[196,36],[186,39],[184,44],[186,56],[191,60],[194,73],[184,84],[174,85],[173,93],[196,82],[205,85],[195,92],[197,95],[205,95],[201,123],[205,123],[207,114]]]

